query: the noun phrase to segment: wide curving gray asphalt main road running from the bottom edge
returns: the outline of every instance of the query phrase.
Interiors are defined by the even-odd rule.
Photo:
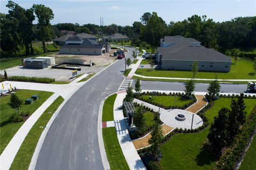
[[[127,47],[131,58],[133,48]],[[71,96],[51,125],[35,169],[103,169],[98,142],[101,101],[118,90],[124,59],[93,77]]]

